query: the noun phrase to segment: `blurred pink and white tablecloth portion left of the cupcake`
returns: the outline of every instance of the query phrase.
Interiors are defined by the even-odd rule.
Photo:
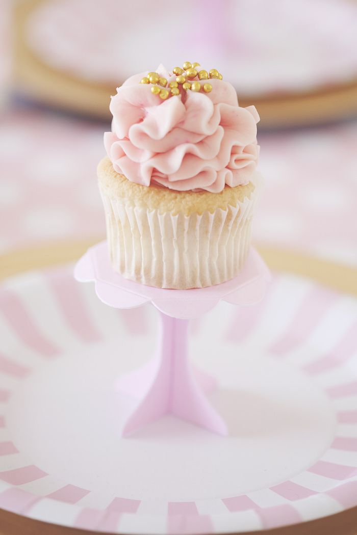
[[[104,126],[41,112],[0,126],[0,250],[104,234],[96,165]]]

